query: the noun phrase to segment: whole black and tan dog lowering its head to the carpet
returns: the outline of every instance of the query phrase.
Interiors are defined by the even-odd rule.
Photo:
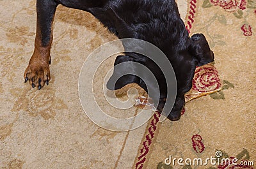
[[[172,121],[180,119],[180,112],[185,103],[184,94],[191,89],[196,66],[214,61],[214,54],[203,34],[194,34],[189,38],[174,0],[37,0],[35,50],[24,78],[25,82],[29,81],[32,87],[38,89],[45,84],[48,85],[51,79],[49,64],[51,64],[52,22],[58,4],[92,13],[118,38],[148,41],[161,49],[171,62],[177,78],[177,96],[168,119]],[[132,52],[125,52],[125,55],[116,57],[115,65],[127,61],[147,66],[156,76],[160,98],[150,97],[155,100],[157,109],[162,112],[166,103],[167,89],[161,69],[145,55]],[[131,75],[118,79],[116,84],[112,84],[110,79],[107,86],[109,89],[120,89],[124,85],[137,83],[148,91],[145,82],[140,77],[132,75],[136,68],[131,62],[127,62],[124,69],[131,70]],[[112,77],[118,75],[120,71],[122,70],[115,69]],[[150,85],[148,87],[154,91],[154,87]]]

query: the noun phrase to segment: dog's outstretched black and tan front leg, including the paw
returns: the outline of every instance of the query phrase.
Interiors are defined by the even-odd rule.
[[[36,1],[36,38],[35,50],[24,73],[25,83],[40,90],[45,83],[48,85],[51,64],[52,22],[58,3],[54,0]]]

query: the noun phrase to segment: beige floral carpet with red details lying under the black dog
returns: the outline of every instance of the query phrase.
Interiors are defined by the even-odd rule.
[[[217,150],[256,163],[255,1],[178,3],[189,31],[204,33],[209,40],[223,90],[189,102],[180,121],[157,123],[155,114],[140,128],[113,132],[88,119],[77,84],[88,55],[116,37],[92,15],[59,6],[51,50],[52,80],[36,91],[23,79],[33,53],[35,1],[1,0],[0,168],[184,168],[164,165],[164,159],[205,159],[215,156]],[[115,110],[100,103],[100,72],[110,70],[114,59],[96,74],[95,96],[111,115],[130,117],[138,113],[137,108]],[[149,144],[148,129],[154,133]]]

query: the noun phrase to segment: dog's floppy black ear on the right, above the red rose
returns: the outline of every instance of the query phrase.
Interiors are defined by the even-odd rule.
[[[214,54],[204,34],[193,34],[190,38],[189,52],[195,57],[198,66],[214,61]]]

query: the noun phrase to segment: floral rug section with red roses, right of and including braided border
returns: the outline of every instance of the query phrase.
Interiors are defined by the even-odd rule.
[[[191,34],[207,36],[223,86],[221,91],[187,103],[179,122],[160,123],[161,115],[156,112],[148,123],[134,168],[254,168],[255,8],[256,1],[246,0],[189,2],[187,29]],[[212,87],[220,87],[218,74],[212,75]],[[206,77],[204,67],[198,68],[189,94],[205,92],[211,84]]]

